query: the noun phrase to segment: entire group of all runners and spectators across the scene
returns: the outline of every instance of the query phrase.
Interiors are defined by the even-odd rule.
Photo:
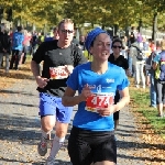
[[[150,85],[151,107],[163,118],[165,108],[165,40],[154,45],[132,28],[130,36],[113,36],[100,28],[75,37],[74,22],[62,20],[53,35],[1,30],[0,64],[6,56],[6,72],[19,69],[32,55],[31,70],[37,84],[41,141],[37,152],[47,153],[46,165],[54,165],[78,105],[68,140],[73,165],[116,165],[119,112],[130,101],[129,79],[136,88]],[[31,47],[31,48],[30,48]],[[88,61],[87,51],[92,61]],[[146,55],[147,53],[147,55]],[[11,55],[11,58],[9,57]],[[42,72],[41,72],[42,63]],[[76,95],[78,91],[78,95]]]

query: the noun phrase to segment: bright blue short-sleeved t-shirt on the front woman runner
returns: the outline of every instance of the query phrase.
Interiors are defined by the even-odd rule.
[[[67,80],[67,86],[73,90],[78,90],[80,94],[85,85],[92,87],[92,92],[113,94],[117,89],[123,90],[129,86],[125,72],[111,63],[108,70],[98,75],[91,70],[91,63],[86,63],[77,66]],[[78,111],[75,114],[73,125],[91,131],[112,131],[114,129],[113,114],[101,117],[97,112],[86,110],[86,101],[78,105]]]

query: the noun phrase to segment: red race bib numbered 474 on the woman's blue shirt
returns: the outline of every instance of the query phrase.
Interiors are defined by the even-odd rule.
[[[113,94],[94,94],[86,100],[86,110],[97,112],[100,108],[107,108],[109,105],[113,105]]]

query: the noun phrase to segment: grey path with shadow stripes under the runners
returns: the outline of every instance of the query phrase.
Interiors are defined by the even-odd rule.
[[[0,91],[0,165],[42,165],[45,157],[36,151],[40,140],[37,91],[33,79],[24,79],[10,89]],[[1,95],[3,92],[3,95]],[[74,112],[76,111],[76,108]],[[129,109],[121,111],[118,139],[118,165],[144,165],[134,156],[143,152],[135,122]],[[69,129],[72,128],[72,124]],[[67,138],[69,135],[69,130]],[[67,140],[57,155],[58,165],[72,165],[66,150]]]

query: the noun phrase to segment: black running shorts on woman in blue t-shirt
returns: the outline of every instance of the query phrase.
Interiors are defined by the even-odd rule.
[[[73,165],[110,161],[117,163],[113,131],[88,131],[73,127],[68,139],[68,154]]]

